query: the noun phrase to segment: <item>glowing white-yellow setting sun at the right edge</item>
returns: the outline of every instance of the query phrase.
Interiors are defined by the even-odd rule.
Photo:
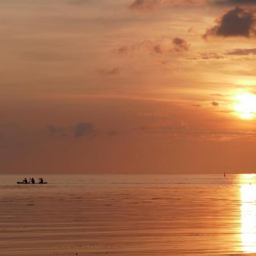
[[[237,95],[237,104],[234,109],[243,119],[253,119],[256,114],[256,95],[252,93],[243,93]]]

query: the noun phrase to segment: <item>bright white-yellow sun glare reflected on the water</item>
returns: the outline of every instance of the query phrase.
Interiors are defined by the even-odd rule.
[[[243,175],[241,185],[241,242],[243,252],[256,253],[256,184],[254,175]]]

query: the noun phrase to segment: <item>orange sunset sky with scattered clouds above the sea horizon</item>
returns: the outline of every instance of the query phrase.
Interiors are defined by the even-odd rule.
[[[0,0],[0,173],[255,172],[255,0]]]

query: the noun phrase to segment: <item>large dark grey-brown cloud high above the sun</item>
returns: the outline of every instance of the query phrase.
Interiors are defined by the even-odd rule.
[[[216,25],[207,29],[204,39],[209,36],[255,36],[255,8],[236,7],[228,10],[216,20]]]

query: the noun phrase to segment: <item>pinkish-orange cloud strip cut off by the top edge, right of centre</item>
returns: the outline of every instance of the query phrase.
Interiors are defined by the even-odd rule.
[[[198,6],[202,4],[205,4],[205,0],[134,0],[129,8],[147,12],[166,6]]]

